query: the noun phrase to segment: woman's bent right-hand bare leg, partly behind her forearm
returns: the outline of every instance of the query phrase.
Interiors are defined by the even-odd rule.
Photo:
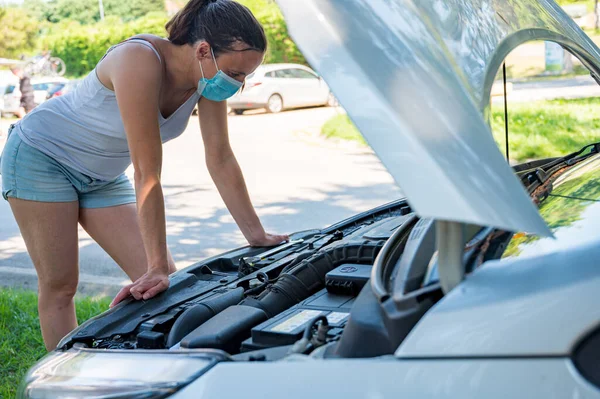
[[[114,260],[132,281],[148,270],[142,233],[135,204],[108,208],[81,208],[79,223]],[[175,262],[169,255],[169,273]]]

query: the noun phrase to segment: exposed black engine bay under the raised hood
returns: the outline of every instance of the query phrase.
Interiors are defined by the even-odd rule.
[[[589,155],[515,171],[540,203],[565,162]],[[464,234],[465,274],[500,258],[512,237],[469,225]],[[210,349],[245,361],[392,354],[443,297],[435,236],[433,220],[395,201],[275,248],[240,248],[176,272],[166,292],[88,320],[59,348]]]

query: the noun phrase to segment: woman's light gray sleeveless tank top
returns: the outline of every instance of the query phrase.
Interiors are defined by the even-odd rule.
[[[117,46],[125,43],[150,47],[162,63],[150,42],[130,39]],[[163,143],[183,133],[199,99],[200,95],[194,93],[169,118],[159,111]],[[15,132],[30,146],[94,179],[114,180],[131,164],[115,93],[100,82],[96,69],[73,91],[34,109],[19,122]]]

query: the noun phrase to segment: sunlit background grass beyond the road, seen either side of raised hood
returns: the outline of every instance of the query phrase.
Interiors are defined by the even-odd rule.
[[[510,156],[513,161],[565,155],[600,141],[600,98],[550,100],[509,104]],[[496,143],[504,149],[504,108],[492,109],[491,125]],[[345,115],[329,120],[325,137],[354,140],[364,138]]]

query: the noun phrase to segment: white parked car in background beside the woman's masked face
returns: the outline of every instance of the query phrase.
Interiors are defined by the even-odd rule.
[[[335,106],[337,100],[327,83],[312,69],[300,64],[266,64],[246,78],[244,87],[227,101],[241,115],[264,108],[278,113],[287,108]]]

